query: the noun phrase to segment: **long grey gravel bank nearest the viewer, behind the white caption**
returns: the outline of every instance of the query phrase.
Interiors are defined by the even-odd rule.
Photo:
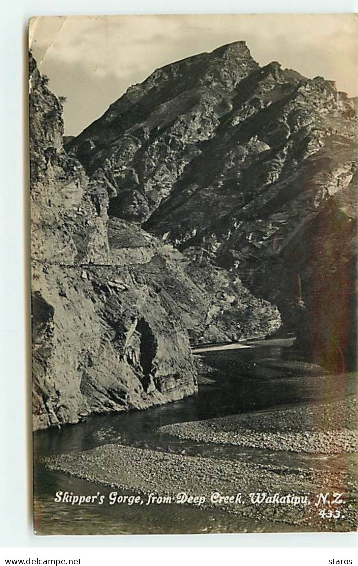
[[[150,494],[169,496],[175,516],[177,497],[180,493],[201,499],[202,503],[187,504],[200,508],[216,507],[240,517],[255,521],[273,521],[291,525],[292,530],[354,530],[355,488],[345,473],[323,472],[313,469],[290,469],[285,466],[246,464],[228,460],[214,460],[182,454],[157,452],[148,449],[110,444],[86,452],[68,453],[44,458],[46,468],[60,471],[89,482],[110,486],[115,490],[130,490],[137,496],[143,494],[146,505]],[[316,507],[321,492],[344,491],[349,494],[342,520],[322,520],[321,508]],[[294,494],[295,504],[271,500],[257,504],[250,494],[262,494],[282,498]],[[120,493],[120,492],[119,492]],[[212,501],[213,494],[237,498],[240,501]],[[266,497],[265,496],[265,497]],[[306,498],[307,500],[301,499]],[[154,505],[159,504],[155,501]],[[159,512],[159,510],[158,510]]]

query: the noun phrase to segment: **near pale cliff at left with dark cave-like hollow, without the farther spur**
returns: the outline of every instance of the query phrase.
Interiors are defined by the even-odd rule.
[[[123,221],[113,234],[106,182],[64,151],[61,102],[32,57],[30,78],[34,427],[192,394],[187,331],[153,276],[170,252]]]

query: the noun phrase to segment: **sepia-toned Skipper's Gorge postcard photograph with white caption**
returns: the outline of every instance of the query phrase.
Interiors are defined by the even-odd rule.
[[[30,20],[36,535],[357,530],[357,32]]]

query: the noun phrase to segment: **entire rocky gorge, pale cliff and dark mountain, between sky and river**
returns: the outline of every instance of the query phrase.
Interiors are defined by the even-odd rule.
[[[355,367],[355,100],[238,41],[64,139],[29,65],[35,428],[192,395],[192,345],[281,329]]]

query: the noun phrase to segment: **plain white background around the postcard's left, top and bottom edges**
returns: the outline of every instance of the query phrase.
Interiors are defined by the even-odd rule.
[[[28,264],[28,188],[27,188],[27,21],[34,15],[120,14],[120,13],[208,13],[208,12],[355,12],[358,2],[300,0],[229,1],[131,0],[2,0],[1,6],[1,82],[0,82],[0,547],[241,547],[235,563],[248,558],[244,548],[319,547],[307,555],[296,549],[283,554],[261,551],[261,558],[250,551],[248,563],[328,564],[329,558],[353,557],[356,534],[291,535],[181,535],[143,537],[35,537],[31,518],[31,385],[29,366],[29,264]],[[357,40],[358,48],[358,40]],[[336,547],[337,551],[333,551]],[[324,550],[326,548],[326,550]],[[346,550],[343,550],[346,548]],[[198,549],[199,550],[199,549]],[[263,549],[262,549],[263,550]],[[184,560],[201,563],[201,554],[193,549]],[[1,551],[0,551],[1,552]],[[59,551],[46,551],[55,558]],[[140,551],[138,551],[139,553]],[[157,551],[156,551],[157,552]],[[118,554],[120,561],[128,557]],[[214,553],[214,554],[213,554]],[[20,550],[9,558],[35,558]],[[66,553],[65,553],[66,554]],[[71,551],[70,558],[76,558]],[[0,554],[1,556],[1,554]],[[38,551],[37,556],[40,556]],[[103,556],[103,555],[102,555]],[[111,560],[113,560],[112,555]],[[133,555],[131,555],[133,556]],[[146,560],[158,563],[159,554],[148,551]],[[162,555],[160,555],[162,556]],[[97,564],[99,555],[87,555]],[[150,558],[151,557],[151,558]],[[177,551],[162,556],[175,563]],[[256,557],[256,558],[255,558]],[[66,556],[64,555],[64,558]],[[138,560],[144,556],[138,555]],[[209,559],[209,556],[206,558]],[[209,562],[217,564],[223,555],[210,552]],[[148,560],[147,560],[148,559]],[[226,560],[226,558],[225,558]],[[116,560],[117,561],[117,560]],[[131,560],[132,561],[132,560]],[[206,560],[205,560],[206,561]],[[92,561],[83,564],[92,564]],[[104,561],[106,563],[106,560]],[[353,562],[354,563],[354,562]],[[3,561],[2,561],[3,564]]]

